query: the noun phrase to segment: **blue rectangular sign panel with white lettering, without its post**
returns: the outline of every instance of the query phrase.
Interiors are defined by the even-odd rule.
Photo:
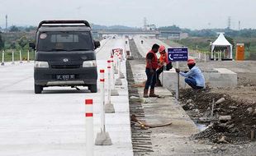
[[[168,48],[168,60],[171,62],[187,62],[187,48]]]

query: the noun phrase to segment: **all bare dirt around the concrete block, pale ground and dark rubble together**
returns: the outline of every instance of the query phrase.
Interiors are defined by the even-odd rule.
[[[238,86],[181,90],[183,108],[193,121],[208,126],[205,131],[192,136],[193,139],[211,143],[246,145],[251,133],[256,132],[256,62],[197,62],[202,70],[225,67],[237,73]],[[215,104],[213,100],[225,99]],[[213,110],[213,116],[211,111]],[[228,121],[220,121],[220,116],[230,116]],[[255,136],[254,136],[255,140]]]

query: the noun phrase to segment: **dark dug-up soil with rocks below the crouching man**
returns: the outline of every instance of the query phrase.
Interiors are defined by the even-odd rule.
[[[222,103],[212,103],[218,99]],[[211,89],[181,90],[183,109],[193,121],[209,126],[206,131],[194,135],[195,139],[209,140],[213,143],[245,144],[251,140],[251,131],[256,132],[256,103],[244,103],[233,99],[229,94],[213,93]],[[211,117],[211,111],[213,116]],[[230,120],[219,121],[220,116],[230,116]],[[225,137],[225,141],[220,141]]]

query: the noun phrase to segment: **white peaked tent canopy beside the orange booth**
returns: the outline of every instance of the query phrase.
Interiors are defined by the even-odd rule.
[[[225,39],[225,36],[223,33],[220,33],[218,39],[216,39],[216,41],[213,44],[211,44],[211,56],[213,56],[214,48],[216,47],[229,47],[230,49],[228,49],[229,50],[228,57],[230,59],[233,59],[232,44],[230,44],[229,41]]]

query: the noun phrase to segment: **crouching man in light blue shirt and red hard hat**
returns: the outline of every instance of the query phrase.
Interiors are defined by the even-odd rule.
[[[181,76],[186,77],[185,82],[187,85],[191,86],[192,89],[203,89],[205,88],[205,77],[202,75],[201,70],[196,67],[196,62],[194,59],[187,60],[187,66],[190,69],[189,71],[182,72],[179,69],[176,69]]]

